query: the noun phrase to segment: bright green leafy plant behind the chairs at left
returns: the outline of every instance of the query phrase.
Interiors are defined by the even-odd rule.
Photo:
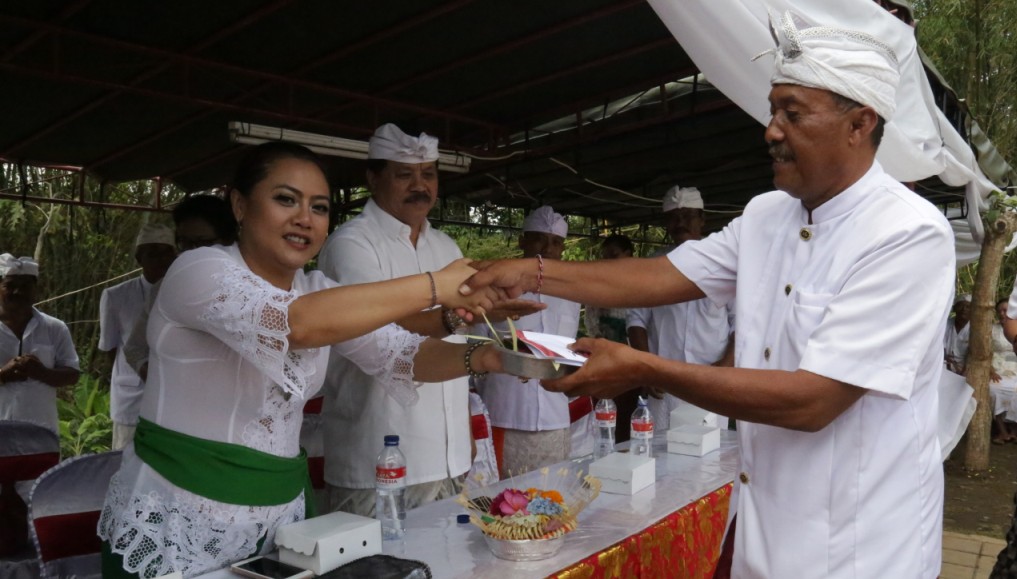
[[[57,399],[60,417],[60,454],[70,458],[101,453],[113,445],[110,392],[101,382],[82,373],[67,399]]]

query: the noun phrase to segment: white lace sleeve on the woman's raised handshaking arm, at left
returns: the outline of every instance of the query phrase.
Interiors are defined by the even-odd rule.
[[[194,249],[177,262],[157,299],[166,316],[212,334],[284,392],[305,398],[315,373],[315,350],[291,351],[287,339],[289,305],[298,295],[273,286],[222,251]]]

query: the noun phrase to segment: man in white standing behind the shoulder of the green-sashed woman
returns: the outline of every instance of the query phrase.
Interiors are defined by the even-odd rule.
[[[177,256],[173,230],[145,224],[134,242],[134,259],[141,275],[103,290],[99,299],[99,349],[113,361],[110,378],[110,418],[113,419],[113,450],[134,439],[143,391],[141,377],[127,363],[124,344],[138,316],[144,311],[152,285],[163,279]]]

